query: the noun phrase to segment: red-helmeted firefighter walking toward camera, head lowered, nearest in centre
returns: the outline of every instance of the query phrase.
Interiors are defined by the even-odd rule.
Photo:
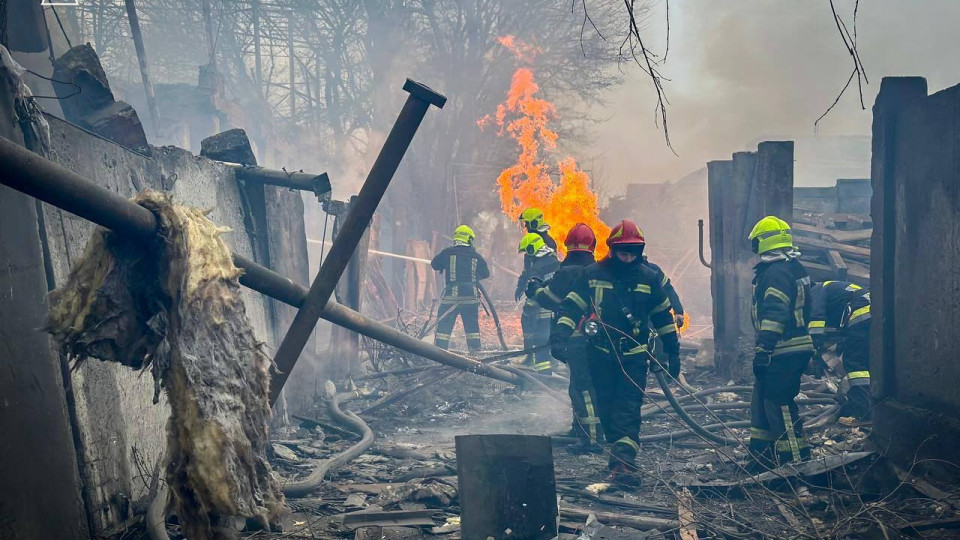
[[[643,264],[645,241],[630,220],[618,223],[607,238],[610,256],[588,266],[560,305],[556,343],[579,328],[589,341],[588,358],[600,422],[610,448],[609,480],[637,485],[640,406],[647,382],[650,323],[663,339],[669,373],[680,374],[677,327],[660,277]],[[651,369],[662,370],[655,362]]]

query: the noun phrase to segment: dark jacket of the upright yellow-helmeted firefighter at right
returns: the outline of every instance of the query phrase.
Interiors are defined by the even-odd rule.
[[[753,323],[757,352],[774,357],[813,352],[807,333],[810,319],[810,276],[796,259],[761,262],[754,267]]]

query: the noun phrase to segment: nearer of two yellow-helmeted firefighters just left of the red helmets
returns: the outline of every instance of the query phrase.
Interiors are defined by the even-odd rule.
[[[520,240],[518,253],[523,253],[523,273],[517,280],[517,295],[519,301],[526,294],[527,285],[543,283],[553,277],[560,262],[557,253],[547,245],[538,233],[527,233]],[[533,291],[531,291],[532,293]],[[523,330],[523,348],[535,351],[527,353],[525,363],[541,373],[553,373],[553,359],[550,356],[550,319],[553,312],[544,309],[532,295],[527,295],[520,314],[520,327]]]

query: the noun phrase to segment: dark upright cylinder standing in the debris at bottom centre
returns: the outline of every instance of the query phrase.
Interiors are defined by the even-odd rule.
[[[456,437],[463,540],[557,536],[557,486],[550,437]]]

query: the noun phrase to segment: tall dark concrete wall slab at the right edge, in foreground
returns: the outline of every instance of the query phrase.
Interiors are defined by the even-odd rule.
[[[884,79],[873,122],[875,437],[906,465],[960,446],[960,86],[926,93]]]

